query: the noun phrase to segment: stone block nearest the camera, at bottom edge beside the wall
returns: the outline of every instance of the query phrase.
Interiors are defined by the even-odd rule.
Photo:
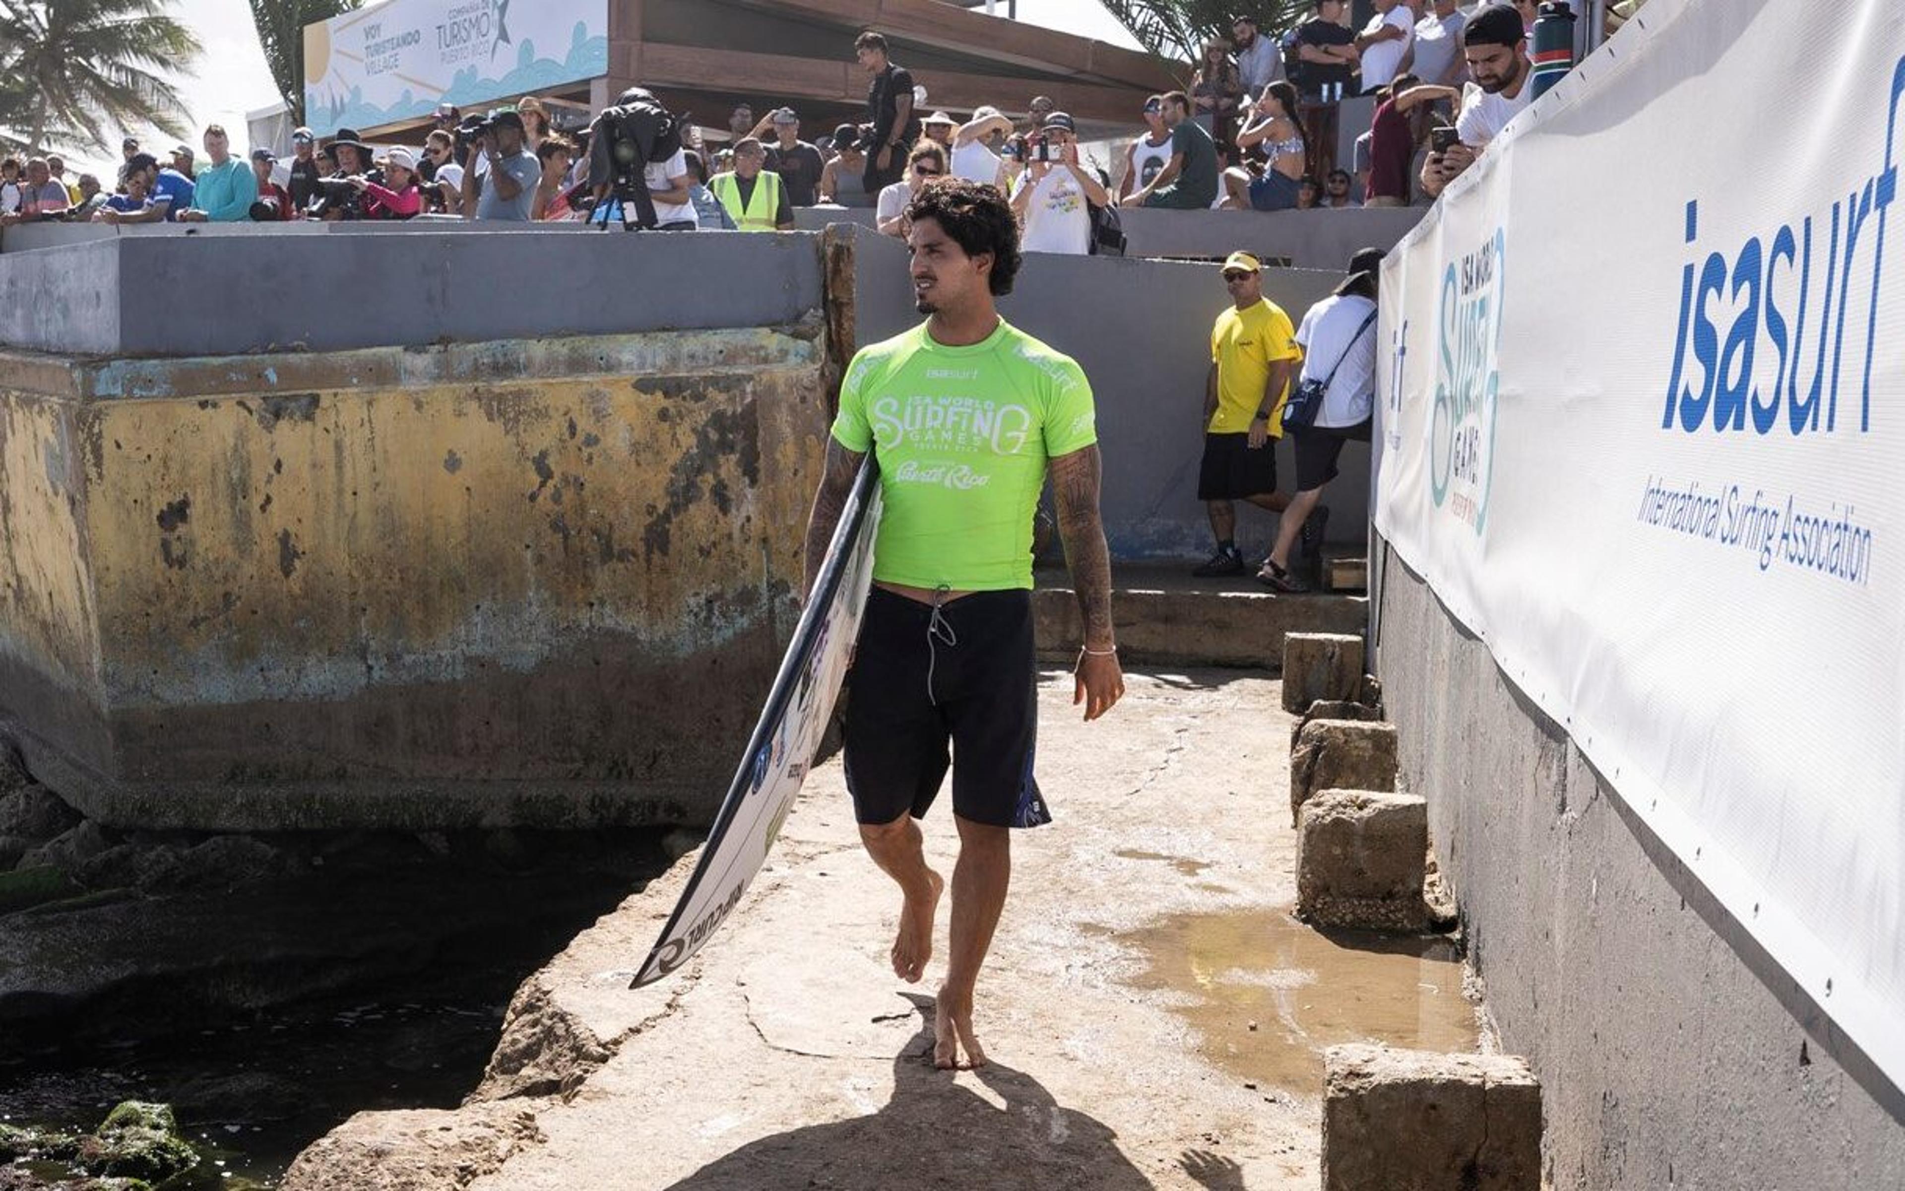
[[[1539,1191],[1541,1084],[1505,1054],[1324,1052],[1324,1191]]]

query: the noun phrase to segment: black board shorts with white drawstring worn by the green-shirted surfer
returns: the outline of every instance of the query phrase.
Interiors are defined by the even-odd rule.
[[[848,675],[853,818],[924,818],[952,770],[952,814],[991,827],[1050,823],[1033,755],[1038,675],[1033,593],[979,591],[933,610],[874,587]]]

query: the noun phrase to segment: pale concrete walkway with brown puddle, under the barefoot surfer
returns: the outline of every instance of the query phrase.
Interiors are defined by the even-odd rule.
[[[1324,938],[1288,918],[1276,682],[1133,675],[1107,720],[1080,724],[1069,675],[1048,673],[1040,717],[1055,823],[1013,840],[975,1012],[991,1067],[930,1065],[947,905],[926,981],[903,985],[886,955],[897,890],[859,850],[832,760],[770,871],[682,972],[625,989],[692,859],[518,995],[535,1010],[507,1029],[507,1065],[572,1094],[511,1100],[533,1111],[533,1138],[518,1130],[474,1191],[1307,1189],[1324,1046],[1474,1046],[1448,941]],[[949,810],[926,821],[939,865],[954,852]],[[358,1117],[307,1153],[293,1185],[383,1185],[366,1155],[389,1168],[404,1130],[438,1149],[459,1128],[482,1138],[493,1107]]]

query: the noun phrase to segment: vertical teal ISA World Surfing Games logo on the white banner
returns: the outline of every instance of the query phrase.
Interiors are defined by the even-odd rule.
[[[1434,417],[1429,427],[1429,492],[1476,534],[1488,522],[1501,372],[1501,269],[1507,238],[1495,229],[1442,274],[1436,313]]]

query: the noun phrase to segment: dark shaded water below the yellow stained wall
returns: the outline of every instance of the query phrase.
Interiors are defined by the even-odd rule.
[[[204,1002],[202,974],[173,985],[143,976],[137,995],[105,995],[91,1012],[8,1021],[0,1120],[90,1132],[124,1100],[170,1103],[200,1164],[164,1191],[232,1191],[276,1185],[352,1113],[455,1107],[482,1079],[522,979],[667,865],[650,835],[600,844],[581,861],[524,873],[425,865],[272,882],[251,898],[238,890],[240,936],[248,905],[290,898],[331,932],[337,915],[381,905],[379,938],[413,945],[396,947],[383,972],[354,955],[345,987],[288,989],[269,1008]],[[238,983],[259,995],[255,972]]]

